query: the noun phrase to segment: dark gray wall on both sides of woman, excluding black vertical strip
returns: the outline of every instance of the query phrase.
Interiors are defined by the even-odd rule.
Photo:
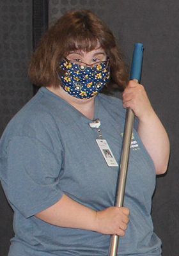
[[[2,131],[13,114],[32,96],[31,84],[27,81],[24,69],[31,51],[31,1],[6,0],[0,4],[0,8],[0,20],[3,24],[3,54],[0,56]],[[157,178],[152,216],[155,232],[162,239],[163,256],[178,256],[179,2],[50,0],[49,24],[67,10],[75,8],[88,8],[109,25],[125,53],[128,65],[131,62],[134,43],[144,44],[141,83],[144,84],[153,108],[166,127],[171,141],[168,171],[166,175]],[[20,47],[21,44],[24,46]],[[9,246],[8,239],[12,236],[12,212],[2,192],[0,196],[0,255],[5,256]]]

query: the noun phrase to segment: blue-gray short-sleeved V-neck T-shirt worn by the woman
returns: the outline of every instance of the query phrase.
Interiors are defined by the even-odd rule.
[[[125,122],[121,100],[98,94],[95,118],[102,137],[120,163]],[[63,193],[97,211],[114,205],[118,167],[110,167],[95,141],[98,131],[68,102],[40,88],[6,127],[0,144],[0,177],[14,214],[9,256],[107,256],[110,236],[61,228],[34,215]],[[157,255],[160,239],[150,216],[155,169],[135,127],[124,206],[130,209],[118,255]],[[71,212],[73,214],[73,212]]]

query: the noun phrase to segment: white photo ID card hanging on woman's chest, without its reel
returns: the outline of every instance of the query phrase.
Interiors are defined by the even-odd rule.
[[[105,162],[108,166],[118,166],[118,163],[116,162],[116,159],[113,156],[113,153],[111,152],[111,149],[109,148],[109,145],[107,144],[106,140],[100,140],[97,139],[98,147],[100,148],[102,155],[104,156]]]

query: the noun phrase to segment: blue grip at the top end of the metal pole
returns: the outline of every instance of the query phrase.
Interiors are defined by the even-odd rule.
[[[140,81],[142,62],[143,62],[143,49],[144,49],[143,44],[139,44],[139,43],[134,44],[132,65],[130,69],[130,79],[137,79],[138,81]]]

